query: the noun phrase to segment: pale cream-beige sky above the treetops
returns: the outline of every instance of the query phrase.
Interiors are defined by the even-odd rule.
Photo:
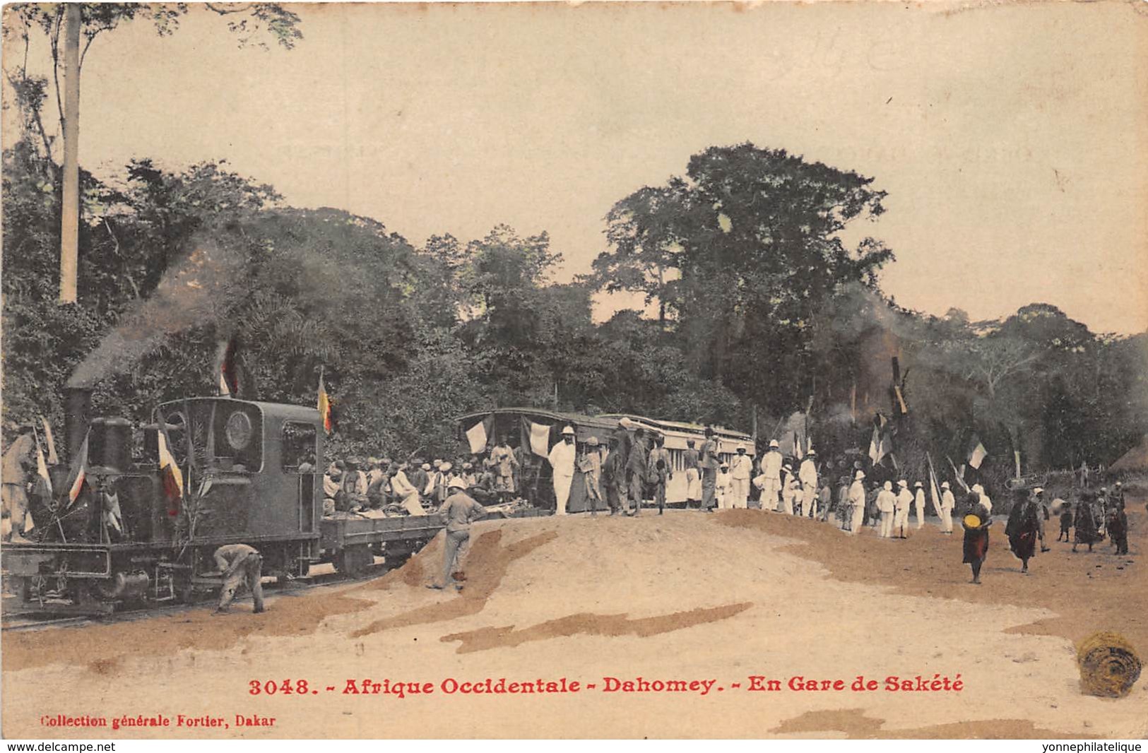
[[[901,305],[987,319],[1044,302],[1137,333],[1143,5],[301,5],[293,51],[240,48],[193,8],[170,37],[137,21],[92,45],[80,162],[226,158],[288,204],[416,243],[546,231],[565,280],[605,250],[614,202],[751,141],[889,193],[847,236],[893,249],[881,285]],[[31,68],[46,47],[33,37]],[[6,68],[22,55],[6,45]]]

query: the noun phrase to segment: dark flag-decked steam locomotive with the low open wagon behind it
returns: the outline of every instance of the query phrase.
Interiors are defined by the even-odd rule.
[[[328,560],[357,570],[387,538],[348,536],[338,523],[325,534],[324,433],[313,407],[186,398],[161,404],[137,433],[125,419],[90,419],[90,391],[69,391],[68,448],[87,445],[79,495],[70,500],[67,480],[55,479],[52,503],[33,509],[32,541],[0,552],[21,608],[99,613],[191,600],[222,584],[212,554],[239,542],[259,549],[267,575],[304,576]],[[183,494],[164,488],[161,447],[180,469]],[[425,518],[391,523],[389,537],[406,545],[393,549],[409,554],[429,539],[441,520]]]

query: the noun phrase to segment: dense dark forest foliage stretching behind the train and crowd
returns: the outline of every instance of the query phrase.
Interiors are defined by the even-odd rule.
[[[284,208],[222,162],[137,161],[114,186],[84,176],[79,303],[60,306],[59,192],[33,143],[3,154],[9,419],[61,421],[80,363],[117,328],[157,321],[152,308],[179,301],[176,272],[210,248],[226,271],[212,304],[101,365],[96,411],[140,421],[160,401],[215,394],[217,349],[235,339],[241,396],[313,404],[324,371],[339,452],[442,452],[453,417],[514,404],[745,430],[755,416],[766,438],[812,405],[823,448],[864,451],[872,416],[899,412],[892,356],[910,467],[925,450],[963,459],[974,434],[1006,472],[1014,449],[1026,468],[1110,463],[1148,430],[1145,335],[1096,335],[1048,304],[991,323],[898,308],[877,285],[891,253],[838,239],[883,194],[783,152],[711,148],[688,178],[621,199],[594,274],[563,285],[545,234],[497,226],[416,248],[373,219]],[[595,324],[600,289],[642,290],[662,316]]]

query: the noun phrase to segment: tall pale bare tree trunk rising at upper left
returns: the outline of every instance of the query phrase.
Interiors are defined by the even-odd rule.
[[[79,31],[80,3],[64,10],[64,169],[60,218],[60,303],[76,303],[79,255]]]

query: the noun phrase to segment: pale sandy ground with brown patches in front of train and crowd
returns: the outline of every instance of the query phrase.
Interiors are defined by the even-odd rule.
[[[1148,653],[1148,519],[1131,556],[1053,542],[1031,575],[994,526],[983,585],[961,537],[851,537],[758,511],[573,515],[474,527],[461,593],[424,583],[436,539],[366,583],[174,615],[5,634],[6,737],[92,737],[57,714],[164,715],[100,737],[1131,737],[1148,735],[1148,673],[1126,698],[1083,696],[1073,643],[1122,632]],[[1056,530],[1049,526],[1050,538]],[[858,675],[882,689],[848,690]],[[961,691],[883,690],[890,675]],[[606,692],[606,677],[713,681]],[[747,690],[751,676],[782,690]],[[791,678],[845,682],[794,691]],[[447,693],[445,678],[580,682],[579,692]],[[348,680],[432,683],[430,694],[344,694]],[[308,693],[249,694],[249,682]],[[585,688],[594,684],[594,689]],[[333,690],[327,690],[332,688]],[[318,691],[318,692],[311,692]],[[227,727],[189,728],[211,716]],[[236,725],[236,715],[274,717]]]

